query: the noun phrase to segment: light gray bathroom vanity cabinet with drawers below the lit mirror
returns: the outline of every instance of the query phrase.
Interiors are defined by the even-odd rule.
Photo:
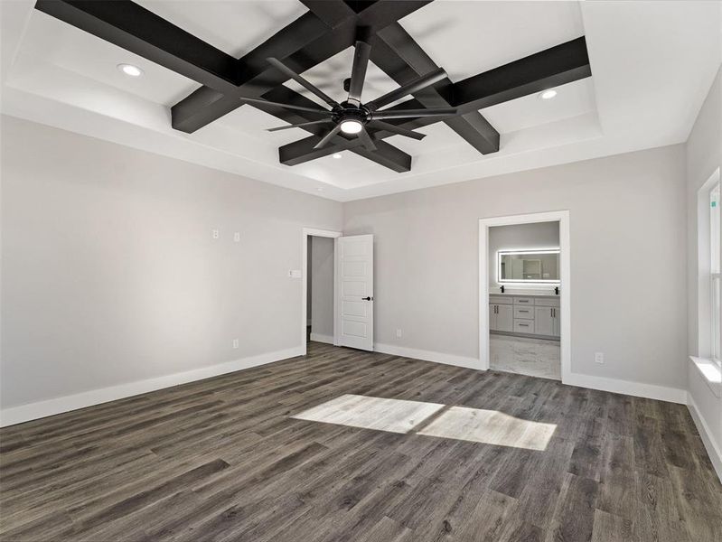
[[[489,331],[504,335],[559,338],[556,294],[490,294]]]

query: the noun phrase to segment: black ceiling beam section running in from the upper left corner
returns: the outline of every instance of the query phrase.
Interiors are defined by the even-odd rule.
[[[238,88],[236,59],[133,2],[38,0],[35,8],[216,90]]]

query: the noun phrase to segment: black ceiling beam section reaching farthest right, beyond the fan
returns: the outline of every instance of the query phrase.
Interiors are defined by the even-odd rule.
[[[464,112],[478,111],[591,75],[582,36],[458,81],[452,105]]]

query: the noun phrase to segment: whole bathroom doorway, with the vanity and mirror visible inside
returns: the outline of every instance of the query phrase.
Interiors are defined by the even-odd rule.
[[[570,373],[568,211],[479,220],[482,369]]]

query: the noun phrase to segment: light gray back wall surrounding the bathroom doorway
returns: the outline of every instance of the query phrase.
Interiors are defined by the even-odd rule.
[[[684,164],[674,145],[345,204],[344,233],[376,236],[376,341],[478,358],[478,219],[569,210],[572,371],[681,388]]]

